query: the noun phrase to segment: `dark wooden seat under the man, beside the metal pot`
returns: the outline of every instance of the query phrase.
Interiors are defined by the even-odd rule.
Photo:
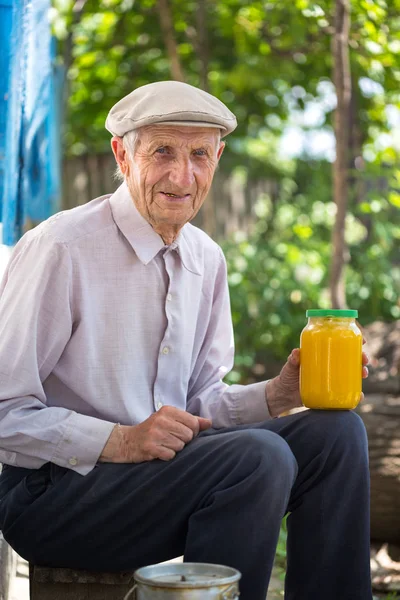
[[[133,585],[133,572],[96,573],[29,565],[30,600],[124,600]]]

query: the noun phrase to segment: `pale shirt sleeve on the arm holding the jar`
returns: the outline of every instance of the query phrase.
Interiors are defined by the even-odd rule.
[[[187,410],[212,420],[213,427],[229,427],[270,419],[266,382],[227,385],[223,378],[234,362],[234,338],[225,258],[220,252],[213,305],[202,348],[193,370]]]

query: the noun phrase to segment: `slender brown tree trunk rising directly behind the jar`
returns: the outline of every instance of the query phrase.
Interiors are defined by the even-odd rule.
[[[335,110],[336,160],[333,165],[333,198],[336,203],[336,221],[332,235],[331,301],[333,308],[346,306],[344,287],[345,220],[348,204],[348,131],[350,114],[350,61],[349,61],[349,0],[336,0],[335,33],[333,37],[333,80],[336,88]]]

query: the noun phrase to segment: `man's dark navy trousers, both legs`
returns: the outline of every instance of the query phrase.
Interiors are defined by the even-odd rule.
[[[371,600],[367,439],[353,412],[208,430],[169,462],[0,476],[0,528],[26,560],[123,571],[183,554],[239,569],[241,600],[265,600],[287,512],[285,598]]]

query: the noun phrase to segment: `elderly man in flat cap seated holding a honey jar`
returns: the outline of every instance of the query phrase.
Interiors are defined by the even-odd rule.
[[[235,126],[189,85],[136,89],[106,123],[124,183],[16,246],[0,302],[0,527],[34,564],[184,554],[236,567],[241,598],[264,600],[290,513],[286,598],[369,600],[359,417],[274,418],[301,404],[297,349],[269,382],[222,382],[226,264],[188,222]]]

